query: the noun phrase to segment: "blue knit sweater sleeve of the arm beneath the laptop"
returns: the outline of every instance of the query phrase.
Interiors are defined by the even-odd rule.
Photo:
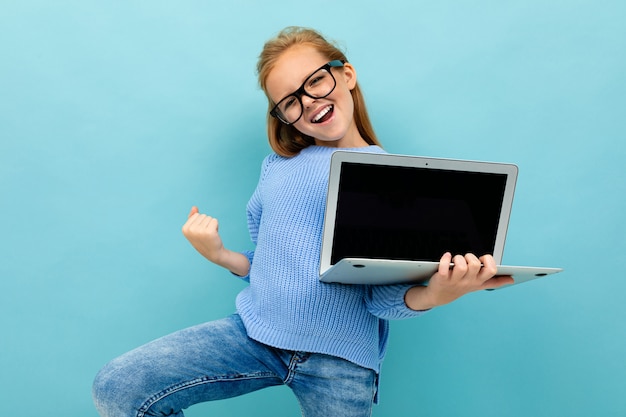
[[[367,309],[373,315],[387,320],[418,317],[428,310],[412,310],[404,302],[404,296],[411,284],[370,285],[366,295]]]

